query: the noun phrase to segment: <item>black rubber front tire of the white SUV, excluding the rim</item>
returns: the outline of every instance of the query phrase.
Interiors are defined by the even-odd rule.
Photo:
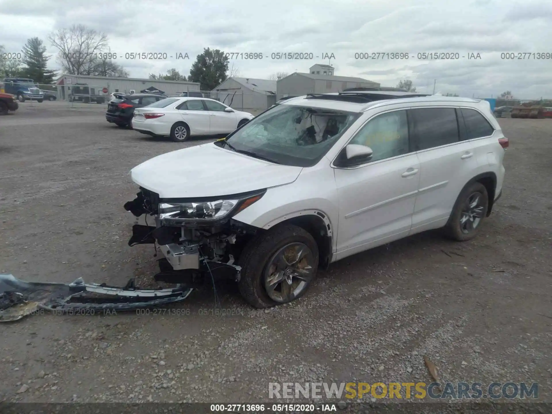
[[[300,246],[294,246],[300,245]],[[295,288],[295,294],[287,299],[284,299],[285,296],[283,293],[280,294],[283,300],[274,300],[273,297],[278,295],[279,292],[276,289],[273,289],[272,298],[267,291],[267,279],[269,276],[270,269],[273,266],[273,257],[275,254],[281,252],[286,246],[290,246],[291,251],[293,248],[301,246],[307,247],[310,252],[304,256],[307,260],[305,263],[310,264],[310,275],[308,280],[304,281],[305,283],[300,286],[297,285]],[[297,251],[297,249],[296,249]],[[309,256],[310,254],[310,256]],[[299,265],[301,267],[301,262]],[[240,257],[240,266],[242,267],[240,272],[240,281],[238,282],[238,288],[240,289],[240,294],[243,299],[253,307],[257,309],[264,309],[267,307],[272,307],[284,303],[291,302],[293,300],[299,299],[305,292],[309,289],[312,280],[316,277],[316,270],[318,269],[319,262],[319,252],[316,241],[311,236],[309,232],[302,229],[301,227],[294,226],[291,224],[282,224],[273,227],[272,229],[262,233],[261,235],[254,237],[248,245],[244,248]],[[287,263],[286,263],[287,264]],[[303,266],[305,266],[303,264]],[[288,268],[285,270],[280,270],[276,272],[277,267],[274,267],[274,273],[287,274]],[[305,271],[305,268],[301,268],[302,271]],[[293,275],[289,275],[290,280],[293,278]],[[284,277],[285,278],[285,277]],[[282,292],[284,291],[284,284],[288,283],[285,279],[282,278],[282,282],[278,283]],[[303,281],[296,278],[295,283],[301,284]],[[292,282],[293,283],[293,282]],[[275,284],[276,286],[276,284]],[[290,286],[289,284],[286,286]],[[301,290],[297,291],[301,287]],[[291,291],[292,287],[289,287]]]

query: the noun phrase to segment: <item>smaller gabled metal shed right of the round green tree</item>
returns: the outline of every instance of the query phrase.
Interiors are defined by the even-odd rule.
[[[276,81],[268,79],[232,76],[213,89],[213,92],[217,92],[216,99],[220,102],[252,114],[262,112],[276,103]]]

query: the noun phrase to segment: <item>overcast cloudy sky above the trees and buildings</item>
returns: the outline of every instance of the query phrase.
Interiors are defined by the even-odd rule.
[[[262,60],[231,60],[242,77],[308,72],[314,63],[328,63],[323,54],[333,54],[335,75],[383,86],[410,79],[418,91],[432,92],[437,79],[442,93],[496,97],[510,90],[520,99],[552,98],[551,0],[0,0],[0,22],[7,52],[38,36],[55,55],[46,36],[75,23],[102,31],[131,77],[171,67],[188,75],[195,56],[211,47],[263,54]],[[166,53],[167,60],[124,59],[130,52]],[[313,59],[271,59],[282,52]],[[408,59],[355,59],[377,52]],[[459,59],[418,59],[424,52]],[[174,59],[178,53],[190,59]],[[548,59],[536,59],[537,53]],[[481,59],[468,59],[471,54]],[[55,56],[50,66],[59,68]]]

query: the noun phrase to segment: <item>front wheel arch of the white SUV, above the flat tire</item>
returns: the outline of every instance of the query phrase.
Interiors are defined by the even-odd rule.
[[[293,224],[308,231],[319,248],[319,264],[327,268],[333,256],[333,226],[326,213],[320,210],[302,210],[279,217],[263,228],[268,230],[280,224]]]

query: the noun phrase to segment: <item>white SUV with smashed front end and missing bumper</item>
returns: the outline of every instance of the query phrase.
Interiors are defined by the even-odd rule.
[[[508,139],[484,100],[407,92],[285,100],[226,139],[148,160],[125,204],[156,280],[235,278],[263,308],[319,266],[425,230],[474,237],[500,197]]]

